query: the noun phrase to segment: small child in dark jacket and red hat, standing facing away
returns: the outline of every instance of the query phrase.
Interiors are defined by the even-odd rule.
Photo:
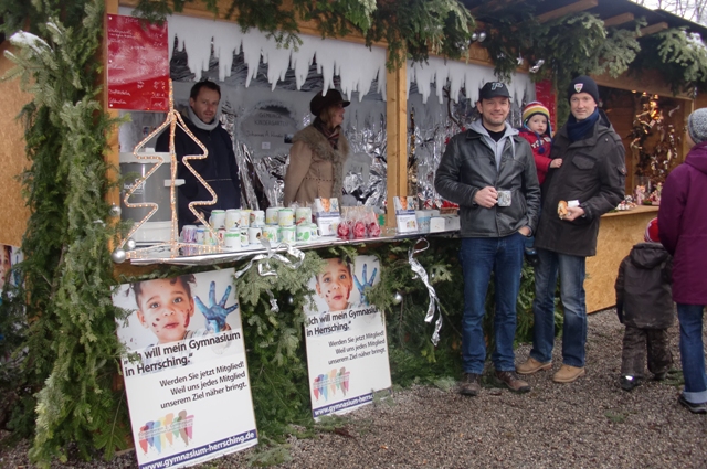
[[[664,380],[673,364],[667,329],[675,321],[671,288],[673,257],[661,244],[658,220],[645,230],[645,243],[639,243],[621,262],[614,288],[616,313],[626,326],[621,352],[619,384],[631,391],[643,380],[645,352],[648,371]]]

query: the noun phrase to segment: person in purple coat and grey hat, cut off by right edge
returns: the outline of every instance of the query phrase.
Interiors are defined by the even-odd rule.
[[[707,414],[703,318],[707,305],[707,108],[687,118],[685,162],[665,180],[658,210],[661,242],[673,255],[673,299],[680,322],[685,390],[679,403]]]

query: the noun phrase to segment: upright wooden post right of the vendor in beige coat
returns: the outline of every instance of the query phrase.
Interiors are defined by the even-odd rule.
[[[388,131],[388,210],[386,226],[395,227],[393,196],[408,195],[408,75],[407,64],[387,78],[386,119]]]

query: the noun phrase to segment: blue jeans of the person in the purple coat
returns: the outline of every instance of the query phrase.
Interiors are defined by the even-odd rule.
[[[705,348],[703,344],[704,305],[677,303],[680,321],[680,362],[685,376],[683,395],[687,402],[707,402],[707,375],[705,375]]]

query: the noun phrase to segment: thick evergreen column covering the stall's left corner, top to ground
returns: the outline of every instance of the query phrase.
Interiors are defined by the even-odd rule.
[[[112,391],[119,344],[108,244],[117,227],[106,223],[104,152],[116,122],[97,100],[103,1],[61,3],[32,2],[32,29],[42,39],[25,36],[17,44],[20,53],[8,54],[17,64],[8,77],[19,75],[34,95],[22,111],[31,215],[22,242],[27,260],[19,266],[25,290],[18,298],[27,298],[30,321],[22,381],[36,392],[36,403],[27,408],[31,399],[19,402],[13,422],[36,413],[30,457],[41,467],[55,457],[65,460],[68,443],[85,458],[95,449],[110,457],[129,435],[116,425],[127,413]],[[1,8],[8,25],[20,23],[8,14],[13,2]]]

